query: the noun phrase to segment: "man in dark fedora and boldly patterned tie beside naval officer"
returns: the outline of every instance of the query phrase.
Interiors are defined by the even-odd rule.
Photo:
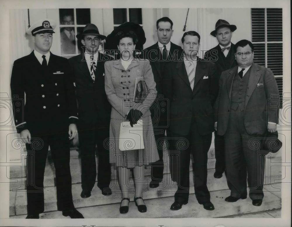
[[[81,150],[81,198],[91,196],[97,175],[97,186],[102,195],[112,194],[111,165],[106,139],[109,137],[111,105],[105,94],[104,64],[110,57],[98,52],[100,41],[105,39],[94,24],[88,24],[77,35],[83,45],[83,53],[71,57],[69,63],[76,85],[77,124]],[[98,149],[98,170],[95,150]]]

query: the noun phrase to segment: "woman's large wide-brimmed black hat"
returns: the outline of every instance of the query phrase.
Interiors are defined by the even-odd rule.
[[[105,49],[106,50],[117,50],[117,40],[116,40],[116,35],[118,32],[128,32],[128,31],[133,31],[135,32],[138,42],[136,43],[136,50],[142,50],[143,49],[143,44],[146,42],[146,37],[145,37],[145,32],[143,28],[133,22],[125,22],[124,24],[119,25],[116,27],[111,34],[107,36],[105,39]]]

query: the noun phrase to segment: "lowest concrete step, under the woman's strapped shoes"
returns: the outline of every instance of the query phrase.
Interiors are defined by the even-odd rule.
[[[169,209],[174,201],[173,196],[145,199],[144,194],[143,198],[147,206],[146,213],[138,212],[133,202],[132,195],[130,195],[131,202],[129,203],[129,212],[127,214],[119,213],[120,200],[117,203],[82,207],[78,208],[78,210],[85,218],[220,218],[246,214],[253,214],[252,217],[257,218],[273,218],[273,211],[277,210],[277,213],[274,215],[279,216],[279,209],[281,209],[281,199],[270,192],[265,192],[263,204],[260,207],[253,206],[250,198],[238,200],[233,203],[225,202],[224,199],[230,195],[229,190],[212,191],[210,194],[211,202],[215,207],[213,211],[205,210],[203,206],[197,202],[194,194],[190,195],[188,204],[183,205],[182,209],[177,211]],[[47,212],[47,207],[45,211],[45,213],[40,214],[41,219],[66,218],[62,216],[62,212],[60,211]],[[271,215],[263,215],[263,212],[270,212]],[[16,215],[10,218],[25,218],[25,215]]]

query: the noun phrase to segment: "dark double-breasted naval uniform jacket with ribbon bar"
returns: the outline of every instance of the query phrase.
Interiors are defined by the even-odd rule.
[[[32,136],[68,132],[69,124],[78,119],[69,62],[51,52],[46,71],[34,51],[15,60],[11,97],[18,133],[25,129]]]

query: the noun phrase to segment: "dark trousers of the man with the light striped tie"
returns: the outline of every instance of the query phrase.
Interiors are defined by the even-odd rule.
[[[195,195],[200,204],[210,202],[210,193],[207,188],[207,161],[208,151],[211,146],[212,133],[208,135],[200,135],[197,129],[197,124],[192,119],[191,130],[186,136],[175,134],[171,132],[171,149],[175,147],[179,151],[179,173],[178,173],[178,189],[175,192],[175,201],[188,201],[190,189],[190,153],[194,158],[194,188]],[[185,142],[179,142],[182,138],[187,139],[187,146]]]

